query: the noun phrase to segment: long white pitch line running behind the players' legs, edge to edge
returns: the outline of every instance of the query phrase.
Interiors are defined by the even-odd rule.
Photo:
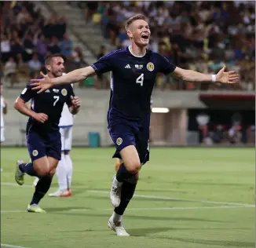
[[[25,187],[25,188],[33,188],[32,185],[18,185],[13,183],[5,183],[2,182],[1,185],[5,186],[19,186],[19,187]],[[100,193],[100,194],[108,194],[108,191],[98,191],[98,190],[87,190],[87,192],[90,193]],[[145,199],[160,199],[160,200],[170,200],[170,201],[181,201],[181,202],[202,202],[202,203],[212,203],[212,204],[224,204],[224,205],[231,205],[231,206],[248,206],[248,207],[254,207],[254,204],[248,204],[248,203],[239,203],[239,202],[215,202],[215,201],[207,201],[203,199],[182,199],[182,198],[172,198],[172,197],[166,197],[166,196],[156,196],[156,195],[137,195],[135,194],[134,197],[138,198],[145,198]]]

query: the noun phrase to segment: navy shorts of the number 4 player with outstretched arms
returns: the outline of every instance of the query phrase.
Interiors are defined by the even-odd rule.
[[[133,145],[137,149],[141,164],[149,160],[149,122],[115,119],[115,122],[109,122],[108,131],[116,147],[113,158],[122,159],[120,151]]]

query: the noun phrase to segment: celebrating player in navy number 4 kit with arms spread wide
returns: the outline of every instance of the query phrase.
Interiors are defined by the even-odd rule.
[[[53,86],[79,82],[96,73],[112,71],[111,96],[108,110],[108,130],[115,142],[113,157],[123,160],[113,177],[110,199],[115,210],[108,226],[117,235],[129,235],[122,219],[126,206],[133,197],[141,166],[149,159],[150,98],[157,73],[170,74],[189,82],[234,83],[239,80],[236,71],[205,75],[184,70],[171,64],[159,53],[146,49],[150,29],[143,15],[131,17],[126,22],[126,33],[131,46],[108,53],[96,63],[69,72],[60,78],[33,79],[38,93]]]

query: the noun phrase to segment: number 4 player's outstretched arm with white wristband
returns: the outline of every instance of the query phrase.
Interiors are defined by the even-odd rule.
[[[221,83],[236,83],[239,82],[240,76],[236,71],[225,72],[223,67],[217,75],[207,75],[197,71],[184,70],[180,67],[176,67],[173,75],[177,78],[181,78],[184,81],[190,82],[221,82]]]

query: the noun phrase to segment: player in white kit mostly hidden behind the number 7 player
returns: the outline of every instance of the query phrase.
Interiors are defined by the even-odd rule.
[[[72,144],[72,126],[73,115],[68,109],[68,105],[64,104],[60,117],[60,137],[61,137],[61,159],[57,166],[56,174],[59,183],[59,189],[49,194],[51,197],[69,197],[71,192],[71,181],[73,173],[73,163],[69,152]]]

